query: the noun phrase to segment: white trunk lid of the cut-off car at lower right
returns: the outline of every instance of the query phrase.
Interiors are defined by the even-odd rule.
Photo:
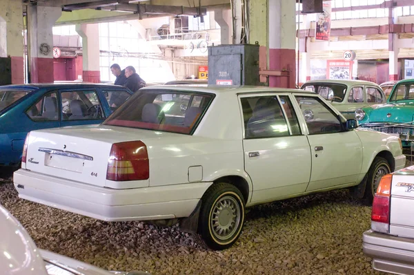
[[[414,167],[394,173],[391,187],[390,234],[414,238]]]

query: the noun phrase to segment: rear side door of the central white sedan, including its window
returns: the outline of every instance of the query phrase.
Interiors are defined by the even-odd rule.
[[[253,181],[251,202],[270,202],[306,190],[311,151],[290,97],[239,96],[244,117],[244,169]]]

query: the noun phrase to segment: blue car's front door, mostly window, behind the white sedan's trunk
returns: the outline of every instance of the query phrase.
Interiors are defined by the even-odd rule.
[[[94,88],[61,90],[60,98],[62,127],[99,124],[106,117]]]

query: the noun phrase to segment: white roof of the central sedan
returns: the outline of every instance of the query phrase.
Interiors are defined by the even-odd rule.
[[[160,85],[142,88],[143,90],[174,90],[174,91],[193,91],[201,93],[233,93],[235,95],[241,93],[309,93],[315,95],[313,91],[305,91],[295,88],[273,88],[266,86],[230,86],[230,85]]]

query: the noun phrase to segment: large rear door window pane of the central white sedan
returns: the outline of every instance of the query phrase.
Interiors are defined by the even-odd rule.
[[[277,96],[243,97],[241,103],[246,138],[276,138],[290,135]]]

